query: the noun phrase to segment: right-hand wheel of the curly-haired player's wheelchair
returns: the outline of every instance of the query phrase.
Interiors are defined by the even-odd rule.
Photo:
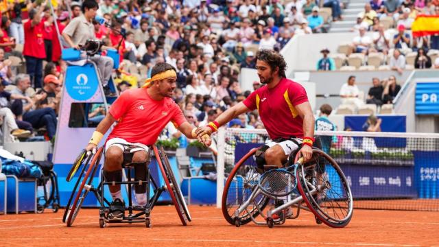
[[[313,149],[310,161],[297,170],[298,190],[316,222],[341,228],[353,214],[353,197],[339,165],[322,150]]]

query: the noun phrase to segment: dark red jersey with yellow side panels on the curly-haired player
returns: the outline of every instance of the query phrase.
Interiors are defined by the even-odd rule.
[[[283,78],[273,89],[261,86],[243,103],[250,110],[258,109],[268,135],[276,139],[292,136],[303,138],[303,119],[294,106],[307,101],[307,92],[302,85]]]

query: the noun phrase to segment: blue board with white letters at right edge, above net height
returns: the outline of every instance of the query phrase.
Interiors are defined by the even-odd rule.
[[[415,114],[439,114],[439,82],[416,84]]]

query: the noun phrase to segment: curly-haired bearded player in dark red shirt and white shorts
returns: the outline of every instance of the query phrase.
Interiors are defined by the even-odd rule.
[[[270,141],[255,154],[258,172],[263,173],[264,165],[283,167],[289,154],[300,146],[298,156],[308,161],[313,154],[314,117],[305,89],[285,77],[286,62],[280,54],[262,49],[256,58],[257,74],[263,86],[195,133],[200,137],[211,135],[238,115],[258,110],[270,136]]]

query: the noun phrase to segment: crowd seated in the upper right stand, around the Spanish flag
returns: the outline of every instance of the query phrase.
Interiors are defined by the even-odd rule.
[[[358,13],[357,23],[352,28],[357,36],[350,44],[346,44],[346,48],[339,47],[339,52],[346,57],[342,57],[337,69],[343,64],[355,67],[343,69],[391,69],[398,73],[402,73],[404,69],[439,68],[439,35],[420,37],[412,35],[412,24],[420,14],[439,15],[438,1],[370,0],[366,2],[364,11]],[[379,62],[375,62],[372,57],[379,57]],[[355,58],[361,61],[357,62]],[[322,59],[328,60],[327,56]],[[318,70],[333,70],[328,63],[333,62],[322,63],[319,60]]]

